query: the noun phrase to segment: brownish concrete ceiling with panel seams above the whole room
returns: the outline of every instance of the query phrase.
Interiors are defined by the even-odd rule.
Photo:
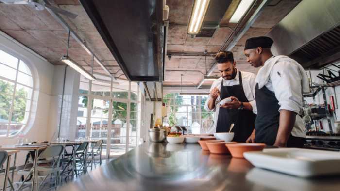
[[[115,58],[106,47],[100,34],[92,24],[78,0],[48,0],[52,6],[60,7],[78,15],[75,19],[62,16],[68,25],[82,38],[86,45],[98,56],[103,64],[115,77],[124,78]],[[167,0],[169,6],[169,31],[167,52],[177,53],[216,53],[223,42],[228,38],[231,30],[227,27],[235,27],[229,23],[240,0],[233,0],[225,13],[220,28],[214,38],[191,38],[187,35],[187,24],[191,12],[191,0]],[[258,4],[262,0],[258,0]],[[275,4],[279,0],[273,0]],[[232,49],[237,67],[243,71],[257,73],[257,70],[246,64],[243,55],[245,40],[255,36],[267,34],[282,18],[284,18],[300,1],[284,0],[274,7],[267,7],[255,21],[252,27],[245,33],[237,45]],[[256,6],[255,6],[256,8]],[[255,9],[254,8],[254,9]],[[254,10],[253,10],[254,11]],[[238,30],[240,30],[239,28]],[[68,32],[45,9],[35,11],[27,5],[6,5],[0,3],[0,30],[7,33],[23,45],[31,48],[36,53],[46,58],[51,64],[63,65],[59,60],[66,55]],[[92,56],[83,49],[72,37],[70,38],[69,56],[86,70],[91,71]],[[214,64],[212,57],[207,57],[207,69]],[[204,56],[172,56],[166,59],[166,73],[164,85],[180,85],[183,74],[183,85],[197,85],[205,73]],[[171,71],[169,71],[171,70]],[[178,70],[178,71],[173,71]],[[106,74],[98,65],[94,64],[94,72]],[[218,75],[217,70],[212,76]],[[204,85],[210,85],[207,81]]]

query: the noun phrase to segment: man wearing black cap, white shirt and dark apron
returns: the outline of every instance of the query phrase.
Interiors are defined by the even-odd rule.
[[[303,147],[305,127],[300,117],[302,93],[309,92],[304,68],[287,56],[273,56],[269,37],[246,41],[247,62],[258,71],[255,82],[257,118],[249,143],[280,147]]]

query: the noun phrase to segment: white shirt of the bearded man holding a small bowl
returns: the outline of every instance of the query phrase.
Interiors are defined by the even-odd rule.
[[[223,77],[221,77],[221,78],[215,80],[214,83],[212,84],[211,88],[210,88],[210,92],[215,87],[217,89],[219,89],[219,91],[221,92],[221,82],[222,82],[222,80],[223,80],[223,86],[239,85],[239,76],[238,76],[239,73],[238,73],[238,71],[239,70],[237,70],[235,79],[232,79],[232,80],[223,80]],[[257,114],[257,108],[256,108],[256,102],[255,102],[255,86],[256,86],[255,78],[256,78],[256,75],[253,74],[253,73],[244,72],[244,71],[241,71],[241,74],[242,74],[242,86],[243,86],[244,94],[246,95],[249,103],[253,107],[253,113]],[[221,98],[218,97],[216,99],[216,101],[215,101],[215,108],[213,108],[212,110],[210,110],[209,106],[208,106],[208,102],[209,102],[210,99],[211,99],[211,97],[209,95],[207,100],[206,100],[206,102],[205,102],[204,109],[206,111],[215,112],[216,111],[216,106],[220,106],[219,104],[220,104]]]

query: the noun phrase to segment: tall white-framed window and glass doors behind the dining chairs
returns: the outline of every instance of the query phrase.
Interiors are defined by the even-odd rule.
[[[136,147],[140,137],[138,84],[105,75],[95,77],[99,80],[80,77],[76,138],[103,139],[104,156],[124,154]]]

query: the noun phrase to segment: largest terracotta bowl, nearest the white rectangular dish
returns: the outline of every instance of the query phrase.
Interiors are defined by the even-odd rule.
[[[266,144],[264,143],[237,143],[225,144],[233,157],[244,158],[243,153],[247,151],[262,151]]]

